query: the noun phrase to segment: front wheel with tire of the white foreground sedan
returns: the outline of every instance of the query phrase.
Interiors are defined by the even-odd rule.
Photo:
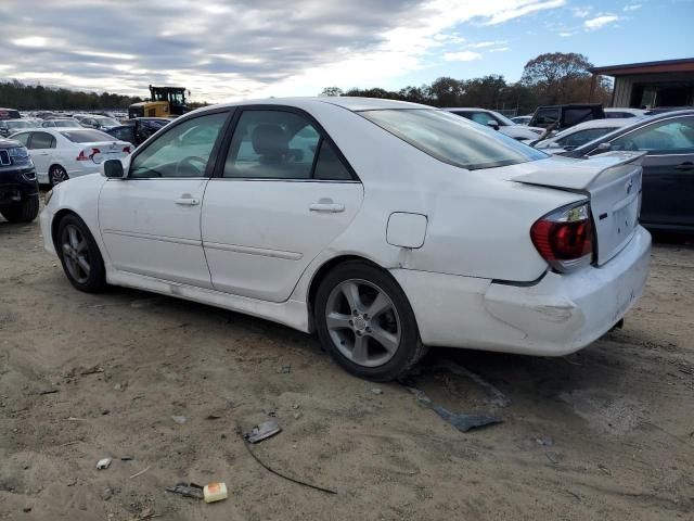
[[[57,226],[55,250],[67,280],[79,291],[99,293],[106,288],[106,270],[99,245],[82,219],[63,217]]]

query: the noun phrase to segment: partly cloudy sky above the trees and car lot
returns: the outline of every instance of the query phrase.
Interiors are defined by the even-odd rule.
[[[0,79],[195,101],[694,56],[694,0],[0,0]]]

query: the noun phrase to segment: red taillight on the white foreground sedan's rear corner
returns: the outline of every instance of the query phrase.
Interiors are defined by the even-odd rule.
[[[557,271],[568,272],[590,264],[593,223],[589,203],[558,208],[530,228],[532,244]]]

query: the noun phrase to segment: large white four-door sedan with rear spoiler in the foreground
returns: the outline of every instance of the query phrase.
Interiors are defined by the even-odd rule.
[[[423,105],[265,100],[187,114],[41,213],[69,282],[317,331],[384,381],[425,346],[564,355],[641,295],[640,155],[554,157]]]

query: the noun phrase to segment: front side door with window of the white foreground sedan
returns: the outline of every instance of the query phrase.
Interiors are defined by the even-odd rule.
[[[223,110],[171,124],[136,152],[125,179],[105,182],[99,225],[116,269],[211,287],[201,203],[228,118]]]

